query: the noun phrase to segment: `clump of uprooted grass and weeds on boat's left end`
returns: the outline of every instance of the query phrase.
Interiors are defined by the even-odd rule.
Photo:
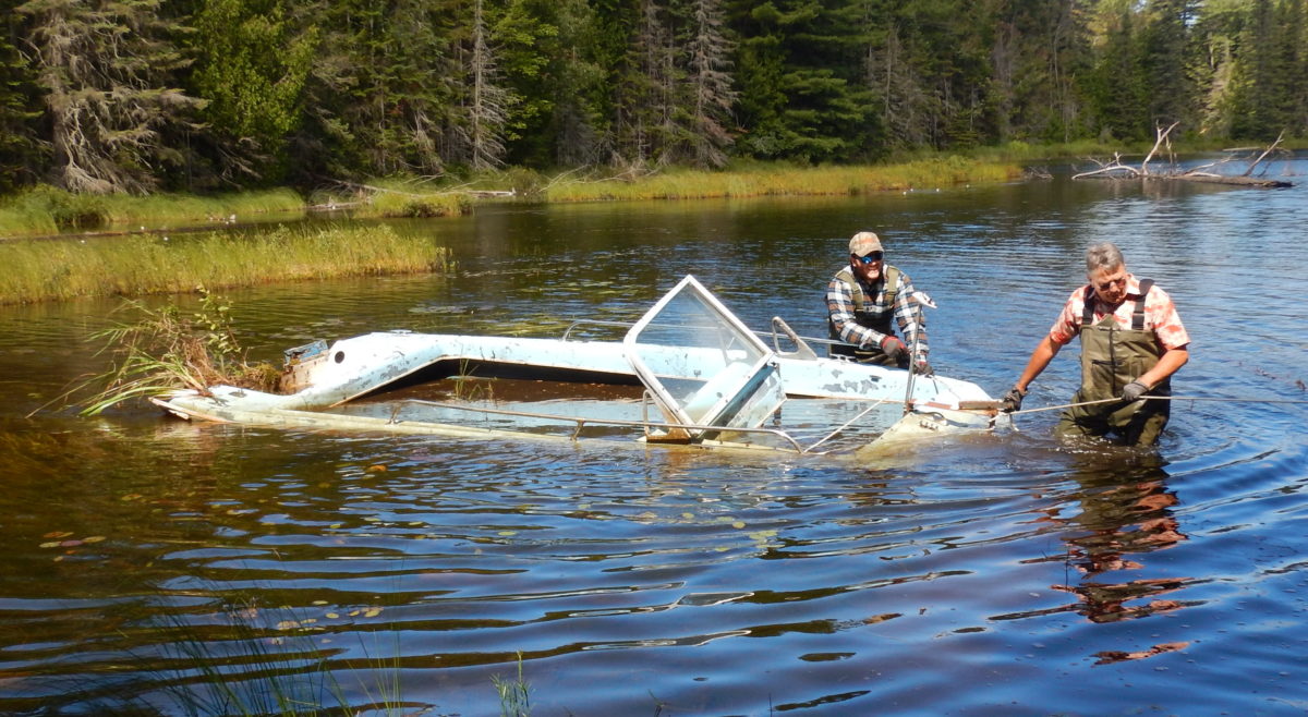
[[[92,377],[69,394],[94,390],[81,402],[81,413],[94,416],[128,399],[175,390],[207,394],[213,385],[271,391],[281,372],[267,362],[251,364],[232,331],[232,306],[222,297],[200,292],[200,309],[183,314],[175,305],[150,309],[127,300],[118,309],[133,318],[97,331],[101,353],[114,357],[105,373]],[[95,389],[98,387],[98,389]],[[65,394],[67,395],[67,394]]]

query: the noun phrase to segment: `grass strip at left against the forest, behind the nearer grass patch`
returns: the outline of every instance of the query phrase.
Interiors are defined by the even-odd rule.
[[[38,186],[0,200],[0,237],[46,237],[69,232],[140,230],[224,224],[267,215],[302,216],[305,200],[289,188],[217,196],[72,194]]]

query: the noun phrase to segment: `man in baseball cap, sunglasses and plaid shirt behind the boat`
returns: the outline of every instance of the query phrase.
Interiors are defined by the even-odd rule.
[[[926,326],[914,294],[908,275],[886,263],[882,239],[872,232],[854,234],[849,266],[827,285],[831,338],[844,341],[832,345],[831,353],[863,364],[912,365],[914,373],[931,376]],[[896,327],[903,339],[895,335]]]

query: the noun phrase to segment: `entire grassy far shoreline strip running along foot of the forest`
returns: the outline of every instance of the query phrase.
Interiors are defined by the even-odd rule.
[[[260,217],[260,221],[284,219],[289,222],[335,212],[345,212],[347,220],[436,219],[467,215],[481,204],[518,201],[556,204],[857,195],[922,186],[1005,182],[1020,178],[1022,173],[1022,167],[1011,161],[950,156],[887,165],[751,165],[727,171],[670,169],[608,177],[560,174],[548,178],[506,170],[458,186],[430,186],[405,179],[374,181],[353,184],[353,194],[335,195],[301,195],[283,187],[216,196],[92,196],[42,186],[0,198],[0,245],[222,230],[246,224],[242,217],[249,220],[251,216]]]

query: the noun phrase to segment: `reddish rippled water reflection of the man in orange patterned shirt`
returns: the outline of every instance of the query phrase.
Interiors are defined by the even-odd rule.
[[[1075,530],[1066,538],[1067,564],[1086,578],[1079,585],[1054,587],[1076,594],[1082,612],[1092,621],[1112,623],[1181,607],[1162,595],[1185,587],[1189,578],[1105,580],[1117,570],[1142,570],[1134,556],[1167,550],[1186,539],[1172,514],[1177,498],[1167,489],[1165,478],[1162,468],[1147,467],[1130,468],[1122,476],[1116,463],[1112,471],[1083,474],[1080,513],[1070,519],[1056,518]]]

